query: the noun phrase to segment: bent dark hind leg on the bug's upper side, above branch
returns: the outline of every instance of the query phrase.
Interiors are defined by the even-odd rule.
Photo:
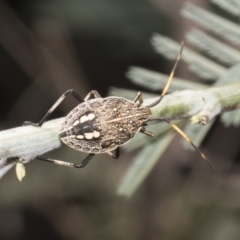
[[[69,95],[71,94],[74,98],[76,98],[79,102],[84,102],[84,99],[73,89],[69,89],[63,93],[63,95],[53,104],[53,106],[47,111],[47,113],[43,116],[39,123],[32,122],[24,122],[23,125],[32,125],[39,127],[41,126],[51,115],[51,113],[59,106],[59,104]]]

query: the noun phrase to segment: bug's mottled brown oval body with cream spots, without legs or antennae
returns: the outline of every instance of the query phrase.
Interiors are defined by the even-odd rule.
[[[86,153],[106,153],[127,143],[151,117],[150,109],[121,97],[95,98],[65,118],[60,138]]]

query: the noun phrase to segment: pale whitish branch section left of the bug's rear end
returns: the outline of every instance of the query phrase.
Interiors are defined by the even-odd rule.
[[[19,159],[35,156],[61,146],[59,128],[64,118],[48,121],[42,127],[22,126],[0,132],[0,178]]]

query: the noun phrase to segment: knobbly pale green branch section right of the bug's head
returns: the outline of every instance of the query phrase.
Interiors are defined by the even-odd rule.
[[[152,100],[147,99],[149,103]],[[167,120],[192,118],[193,123],[207,124],[216,115],[240,107],[240,82],[207,88],[184,90],[167,95],[152,114]]]

